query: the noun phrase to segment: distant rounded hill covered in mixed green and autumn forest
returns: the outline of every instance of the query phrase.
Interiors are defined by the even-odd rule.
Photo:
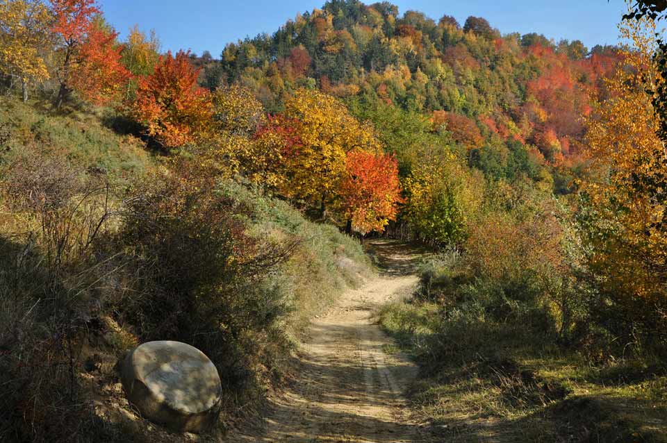
[[[579,117],[618,60],[612,47],[359,0],[327,1],[272,35],[228,44],[221,58],[204,84],[240,82],[273,112],[298,87],[318,86],[366,110],[418,112],[468,149],[517,140],[554,163],[582,151]]]

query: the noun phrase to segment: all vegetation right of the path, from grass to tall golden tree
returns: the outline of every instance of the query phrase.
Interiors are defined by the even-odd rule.
[[[462,240],[423,261],[413,299],[379,313],[422,367],[415,418],[445,440],[667,440],[663,207],[652,191],[664,151],[643,89],[662,80],[654,23],[620,29],[636,46],[586,119],[577,200],[488,183]]]

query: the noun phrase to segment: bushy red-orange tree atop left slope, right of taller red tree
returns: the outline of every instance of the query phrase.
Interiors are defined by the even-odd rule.
[[[163,147],[176,148],[206,136],[211,121],[208,92],[197,85],[199,69],[190,53],[160,57],[153,74],[141,78],[131,113]]]

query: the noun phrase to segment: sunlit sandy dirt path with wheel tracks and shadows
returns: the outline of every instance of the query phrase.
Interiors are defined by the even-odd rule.
[[[271,400],[260,426],[229,442],[427,442],[427,432],[406,416],[402,392],[416,367],[392,344],[372,316],[387,301],[411,293],[416,250],[397,242],[371,246],[386,272],[345,293],[336,308],[311,326],[297,380]]]

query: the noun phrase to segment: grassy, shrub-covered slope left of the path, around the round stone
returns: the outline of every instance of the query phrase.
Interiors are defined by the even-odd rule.
[[[306,321],[372,274],[337,228],[233,180],[181,181],[104,112],[1,109],[0,440],[174,441],[129,408],[116,366],[167,339],[217,365],[221,432],[288,374]]]

